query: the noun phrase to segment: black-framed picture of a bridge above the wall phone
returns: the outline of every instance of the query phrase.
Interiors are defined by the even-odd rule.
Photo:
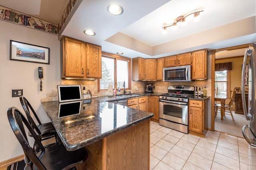
[[[10,60],[50,64],[50,48],[10,40]]]

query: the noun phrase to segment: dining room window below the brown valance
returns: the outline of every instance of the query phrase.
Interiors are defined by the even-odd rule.
[[[215,89],[218,87],[217,95],[230,97],[230,71],[215,71]]]

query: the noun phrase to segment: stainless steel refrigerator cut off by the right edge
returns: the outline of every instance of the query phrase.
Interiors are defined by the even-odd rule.
[[[245,98],[245,86],[248,85],[248,103]],[[245,140],[256,148],[256,42],[254,47],[246,49],[242,66],[242,103],[244,117],[248,125],[244,125],[242,133]],[[248,110],[246,105],[248,105]]]

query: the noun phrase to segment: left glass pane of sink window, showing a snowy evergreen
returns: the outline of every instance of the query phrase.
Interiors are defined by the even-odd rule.
[[[102,57],[102,79],[100,89],[108,89],[108,85],[114,88],[114,59]]]

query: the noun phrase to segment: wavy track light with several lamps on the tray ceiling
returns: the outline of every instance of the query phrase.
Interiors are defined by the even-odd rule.
[[[200,20],[199,14],[200,12],[203,12],[204,10],[202,9],[197,9],[197,10],[193,10],[191,12],[188,12],[186,15],[182,15],[182,16],[178,16],[175,20],[175,22],[173,22],[172,24],[165,24],[162,26],[163,28],[163,34],[167,33],[166,28],[171,27],[172,26],[172,30],[177,30],[177,23],[181,22],[182,26],[186,25],[186,17],[194,14],[194,22],[198,22]]]

